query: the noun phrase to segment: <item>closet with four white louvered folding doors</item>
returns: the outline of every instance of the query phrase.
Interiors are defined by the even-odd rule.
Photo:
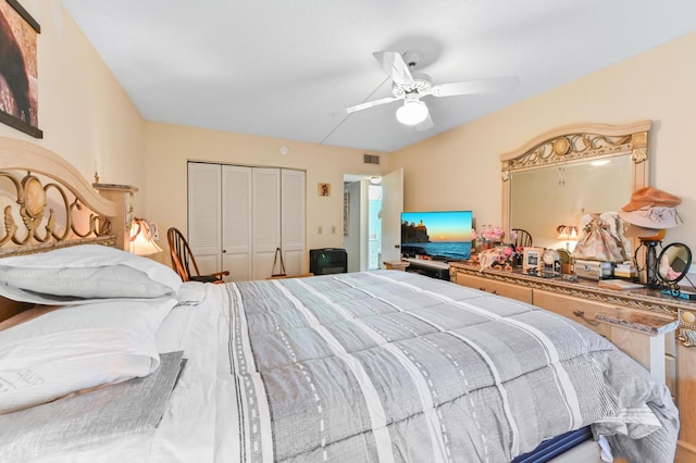
[[[304,199],[303,171],[189,162],[188,242],[201,272],[265,279],[281,248],[286,273],[306,273]]]

